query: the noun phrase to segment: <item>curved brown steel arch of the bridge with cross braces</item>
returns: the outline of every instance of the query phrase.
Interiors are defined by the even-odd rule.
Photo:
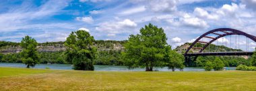
[[[222,34],[220,33],[216,33],[216,32],[223,32]],[[217,37],[210,37],[210,36],[207,36],[209,34],[214,34],[214,35],[217,35]],[[205,45],[203,46],[203,48],[200,48],[201,50],[199,51],[199,53],[203,52],[203,50],[205,48],[207,48],[208,45],[210,45],[212,42],[216,41],[217,39],[219,39],[220,37],[225,37],[227,35],[244,35],[246,37],[249,37],[250,39],[252,39],[253,41],[256,42],[256,37],[254,35],[250,35],[248,33],[245,33],[243,31],[239,31],[237,29],[231,29],[231,28],[219,28],[219,29],[213,29],[211,31],[207,31],[206,33],[203,33],[203,35],[201,35],[200,37],[198,37],[190,46],[189,48],[187,48],[184,56],[187,56],[189,50],[191,50],[191,48],[193,48],[193,46],[196,44],[196,43],[205,43]],[[205,41],[199,41],[200,39],[202,39],[203,37],[207,37],[209,39],[212,39],[210,40],[209,42],[205,42]]]

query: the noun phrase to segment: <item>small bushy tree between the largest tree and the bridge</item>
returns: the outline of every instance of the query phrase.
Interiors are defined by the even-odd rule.
[[[172,72],[175,71],[176,68],[183,70],[184,66],[184,56],[178,54],[174,50],[170,51],[169,61],[167,62],[168,69],[171,69]]]

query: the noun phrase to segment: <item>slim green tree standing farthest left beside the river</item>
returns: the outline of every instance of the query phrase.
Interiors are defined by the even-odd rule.
[[[39,62],[39,55],[36,50],[38,43],[36,39],[26,35],[22,38],[20,46],[22,47],[22,62],[27,65],[27,68],[30,66],[34,67]]]

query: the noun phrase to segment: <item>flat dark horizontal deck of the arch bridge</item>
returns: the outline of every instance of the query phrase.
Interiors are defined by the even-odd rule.
[[[202,52],[191,53],[186,56],[251,56],[253,52]]]

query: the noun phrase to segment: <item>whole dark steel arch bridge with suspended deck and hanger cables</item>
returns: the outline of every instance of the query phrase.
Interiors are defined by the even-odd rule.
[[[224,52],[221,52],[218,50],[218,39],[222,39],[222,43],[224,39],[227,39],[227,36],[230,36],[230,48],[231,48],[231,35],[238,35],[238,43],[237,43],[237,38],[235,36],[235,48],[237,48],[237,44],[238,44],[238,50],[236,52],[228,52],[227,50],[225,50]],[[245,37],[247,37],[246,39],[246,45],[247,45],[247,51],[239,51],[239,35],[243,35]],[[205,40],[203,40],[205,39]],[[189,48],[187,48],[185,54],[183,54],[185,56],[185,61],[187,62],[191,57],[194,57],[194,60],[196,60],[197,56],[251,56],[253,55],[253,52],[249,52],[249,39],[253,40],[256,42],[256,37],[254,35],[245,33],[243,31],[239,31],[237,29],[230,29],[230,28],[219,28],[219,29],[213,29],[211,31],[207,31],[206,33],[203,33],[203,35],[199,36],[197,39],[195,39],[195,41],[189,46]],[[226,40],[225,40],[226,41]],[[210,52],[210,50],[208,50],[208,52],[205,52],[204,50],[206,48],[211,48],[210,45],[212,43],[216,43],[216,45],[214,47],[216,47],[216,50],[214,50],[215,52]],[[227,44],[224,43],[224,45]],[[200,45],[200,46],[199,46]],[[197,47],[199,46],[199,47]],[[226,45],[227,47],[227,45]],[[191,49],[195,49],[198,50],[198,52],[191,52]]]

